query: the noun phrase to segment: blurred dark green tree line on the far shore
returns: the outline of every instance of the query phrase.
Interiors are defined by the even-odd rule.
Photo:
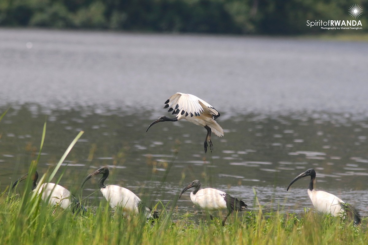
[[[345,0],[0,0],[0,26],[145,32],[302,34],[307,20],[351,19]],[[357,3],[365,14],[368,1]]]

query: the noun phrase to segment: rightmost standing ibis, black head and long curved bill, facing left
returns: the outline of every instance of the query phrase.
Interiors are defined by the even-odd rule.
[[[343,216],[346,213],[348,217],[353,219],[355,225],[360,224],[359,213],[355,208],[345,203],[335,195],[332,195],[326,191],[316,191],[314,189],[314,184],[316,182],[316,172],[314,169],[308,169],[304,173],[299,174],[290,182],[289,186],[287,187],[287,191],[295,181],[306,176],[311,176],[311,181],[309,182],[308,188],[308,196],[311,198],[312,204],[318,212],[330,214],[332,216]]]

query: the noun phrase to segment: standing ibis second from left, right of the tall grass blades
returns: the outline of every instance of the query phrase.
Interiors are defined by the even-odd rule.
[[[139,212],[144,212],[147,219],[157,219],[159,217],[157,211],[152,212],[152,209],[146,207],[141,199],[127,188],[123,188],[118,185],[105,185],[104,181],[107,179],[107,176],[109,176],[109,169],[107,167],[100,167],[96,171],[90,173],[83,181],[82,187],[87,180],[98,174],[102,174],[102,177],[98,182],[98,186],[103,197],[105,197],[109,202],[111,208],[121,208],[124,215],[128,213],[138,214]]]

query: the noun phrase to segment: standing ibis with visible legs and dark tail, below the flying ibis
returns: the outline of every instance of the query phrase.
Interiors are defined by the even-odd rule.
[[[212,220],[212,212],[216,210],[227,209],[229,213],[227,213],[226,217],[222,221],[222,225],[225,225],[225,221],[227,217],[233,211],[244,211],[247,208],[247,204],[243,201],[240,201],[238,198],[231,197],[226,192],[214,189],[214,188],[201,188],[201,183],[199,180],[194,180],[187,187],[181,191],[179,198],[183,195],[184,191],[189,188],[194,187],[194,191],[190,193],[190,199],[194,203],[195,206],[198,206],[202,210],[205,210],[210,214]]]

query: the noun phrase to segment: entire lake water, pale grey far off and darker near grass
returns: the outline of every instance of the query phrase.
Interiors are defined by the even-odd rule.
[[[176,198],[195,179],[250,209],[256,192],[265,210],[301,212],[309,179],[286,188],[313,167],[317,189],[367,215],[367,54],[368,43],[312,39],[0,29],[0,188],[27,172],[46,121],[40,173],[85,131],[60,181],[83,198],[99,179],[81,192],[87,174],[109,166],[106,184],[176,215],[194,212],[189,191]],[[176,92],[220,112],[213,153],[188,122],[146,132]]]

